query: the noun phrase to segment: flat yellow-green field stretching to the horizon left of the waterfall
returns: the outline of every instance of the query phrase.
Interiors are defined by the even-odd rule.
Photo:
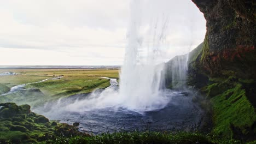
[[[119,69],[0,69],[0,73],[6,71],[19,74],[0,76],[0,83],[9,88],[24,83],[49,79],[40,83],[32,83],[25,87],[40,89],[47,100],[68,97],[78,93],[88,93],[97,88],[106,88],[110,85],[109,79],[103,79],[102,77],[116,79],[119,77]],[[60,75],[63,77],[56,79]],[[13,95],[7,95],[6,97],[8,99],[14,98]]]

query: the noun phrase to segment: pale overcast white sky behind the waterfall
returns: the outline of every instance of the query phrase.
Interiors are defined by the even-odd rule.
[[[203,41],[206,21],[193,2],[151,1],[154,7],[141,8],[143,17],[152,18],[159,9],[169,17],[166,59],[187,53]],[[130,0],[0,2],[0,65],[123,63],[129,48],[129,17],[134,15]]]

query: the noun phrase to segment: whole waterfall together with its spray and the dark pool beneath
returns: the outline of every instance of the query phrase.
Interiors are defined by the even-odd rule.
[[[69,124],[79,122],[80,130],[94,133],[143,130],[148,123],[156,131],[194,129],[201,110],[192,97],[163,85],[171,77],[173,86],[183,86],[187,77],[188,55],[165,63],[189,52],[190,31],[177,26],[189,25],[180,17],[187,15],[183,5],[187,1],[181,1],[132,0],[120,83],[110,79],[106,89],[52,101],[34,111]]]

